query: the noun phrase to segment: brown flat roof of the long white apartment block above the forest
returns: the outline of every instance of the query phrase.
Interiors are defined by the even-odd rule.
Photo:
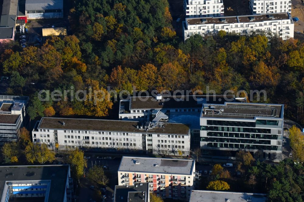
[[[188,25],[203,25],[203,24],[228,24],[228,23],[242,23],[242,22],[263,22],[275,20],[288,20],[288,13],[267,13],[257,15],[239,15],[239,16],[225,16],[225,17],[204,17],[204,18],[187,18]]]

